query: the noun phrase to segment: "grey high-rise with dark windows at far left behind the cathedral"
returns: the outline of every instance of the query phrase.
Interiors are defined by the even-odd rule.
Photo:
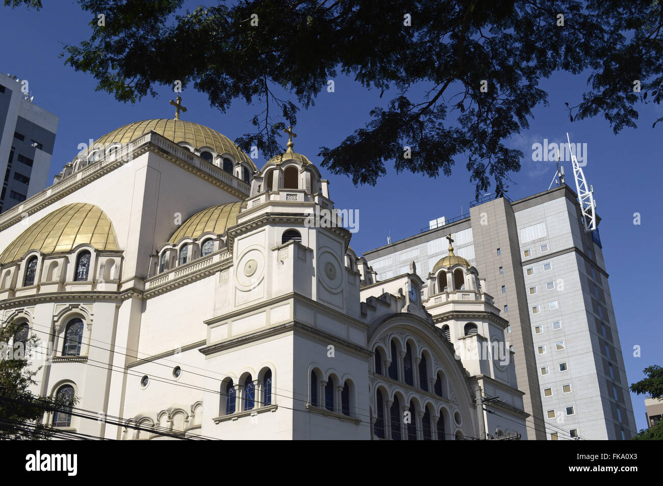
[[[46,188],[58,117],[34,105],[21,79],[0,74],[0,213]]]

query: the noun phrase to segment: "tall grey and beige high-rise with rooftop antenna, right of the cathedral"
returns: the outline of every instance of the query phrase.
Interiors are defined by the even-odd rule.
[[[509,320],[528,438],[629,439],[636,424],[598,230],[585,232],[577,195],[561,185],[520,199],[485,198],[469,215],[365,252],[378,279],[416,262],[426,280],[455,253],[485,277]]]

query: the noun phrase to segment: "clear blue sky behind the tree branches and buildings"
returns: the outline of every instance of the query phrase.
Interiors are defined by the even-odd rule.
[[[62,42],[77,44],[89,37],[90,15],[74,1],[49,2],[42,11],[0,7],[0,71],[27,79],[34,103],[60,117],[49,182],[66,162],[78,152],[78,144],[129,122],[173,117],[168,105],[174,99],[168,87],[158,87],[159,97],[147,97],[136,105],[122,104],[107,93],[95,91],[94,80],[76,73],[58,58]],[[251,75],[251,73],[247,73]],[[585,89],[585,76],[556,73],[542,82],[549,93],[548,107],[539,107],[530,121],[530,129],[514,140],[525,159],[522,169],[511,175],[511,199],[520,199],[548,189],[554,175],[554,164],[533,162],[534,142],[544,138],[559,141],[570,133],[572,142],[587,144],[585,176],[594,187],[601,216],[601,240],[617,325],[627,368],[628,381],[642,378],[642,369],[651,364],[663,365],[663,326],[660,315],[654,315],[654,304],[660,299],[663,274],[663,246],[660,194],[663,190],[660,139],[663,124],[652,129],[652,123],[663,114],[663,107],[640,105],[637,129],[627,129],[615,136],[603,117],[570,122],[564,102],[576,105]],[[391,93],[385,93],[389,99]],[[247,107],[238,101],[223,114],[211,109],[206,95],[194,89],[182,93],[188,111],[182,119],[215,128],[231,139],[251,130],[249,123],[261,107]],[[383,102],[383,101],[382,101]],[[347,134],[368,121],[369,110],[379,105],[379,91],[367,91],[351,78],[335,78],[335,92],[322,91],[316,105],[298,115],[295,150],[314,162],[320,146],[334,146]],[[285,144],[285,139],[282,141]],[[257,166],[264,164],[261,156]],[[568,182],[573,187],[572,169],[566,164]],[[375,187],[355,187],[341,175],[331,175],[330,195],[336,207],[359,209],[359,232],[351,242],[363,252],[392,241],[406,238],[428,226],[437,217],[448,218],[467,212],[474,198],[474,186],[463,160],[458,160],[451,177],[430,179],[412,173],[397,174],[388,168],[386,177]],[[575,190],[575,187],[573,187]],[[633,224],[633,214],[640,213],[641,224]],[[633,347],[640,346],[640,358]],[[644,428],[643,397],[632,395],[638,429]]]

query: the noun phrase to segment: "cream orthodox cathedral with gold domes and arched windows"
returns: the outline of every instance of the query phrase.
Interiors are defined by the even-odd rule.
[[[294,152],[154,119],[0,217],[0,312],[39,340],[60,434],[117,440],[526,438],[485,280],[449,254],[378,281]],[[175,103],[174,103],[175,104]],[[310,224],[328,211],[337,224]]]

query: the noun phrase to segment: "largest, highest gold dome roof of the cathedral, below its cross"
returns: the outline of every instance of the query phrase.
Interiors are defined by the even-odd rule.
[[[97,144],[105,146],[113,142],[126,144],[150,131],[154,131],[175,143],[188,142],[194,148],[207,146],[216,150],[219,155],[230,154],[238,162],[246,162],[254,170],[257,170],[249,156],[229,138],[208,126],[183,120],[154,119],[129,123],[105,134],[94,142],[93,147]]]

